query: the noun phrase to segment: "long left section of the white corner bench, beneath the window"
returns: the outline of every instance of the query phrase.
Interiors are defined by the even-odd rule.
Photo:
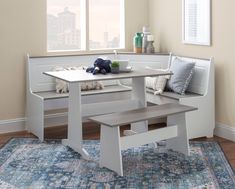
[[[52,71],[56,66],[89,66],[99,56],[106,56],[109,59],[129,59],[131,64],[140,67],[145,66],[145,62],[153,67],[161,66],[162,62],[168,60],[168,55],[118,55],[96,54],[96,55],[76,55],[76,56],[45,56],[27,57],[27,105],[26,105],[26,127],[40,140],[44,140],[44,117],[45,110],[55,110],[68,107],[68,93],[58,94],[55,91],[55,80],[43,74]],[[134,57],[134,58],[133,58]],[[104,101],[119,101],[130,98],[130,87],[120,85],[119,81],[104,81],[103,90],[91,90],[82,92],[82,115],[83,117],[99,115],[104,113],[133,109],[133,106],[103,106]],[[123,102],[120,102],[123,103]],[[129,103],[130,104],[130,103]],[[100,108],[102,106],[102,108]]]

